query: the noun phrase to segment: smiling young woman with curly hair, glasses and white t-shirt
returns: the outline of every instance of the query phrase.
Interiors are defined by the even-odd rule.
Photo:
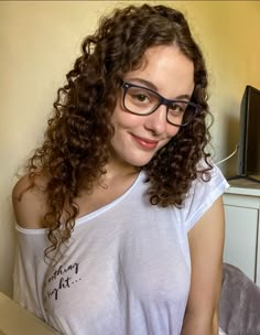
[[[218,334],[227,183],[183,14],[104,18],[13,190],[14,298],[62,334]]]

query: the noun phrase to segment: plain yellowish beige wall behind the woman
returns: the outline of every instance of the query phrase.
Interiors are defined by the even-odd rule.
[[[8,294],[14,253],[10,198],[14,173],[42,138],[56,88],[78,55],[82,39],[94,30],[100,13],[127,3],[0,2],[0,291]],[[260,88],[260,2],[164,3],[184,10],[205,52],[218,161],[238,141],[239,104],[246,85]],[[221,168],[235,172],[236,158]]]

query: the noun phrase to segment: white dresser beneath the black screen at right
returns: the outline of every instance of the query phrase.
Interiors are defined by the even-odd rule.
[[[226,240],[224,261],[260,285],[260,183],[229,181],[224,194]]]

